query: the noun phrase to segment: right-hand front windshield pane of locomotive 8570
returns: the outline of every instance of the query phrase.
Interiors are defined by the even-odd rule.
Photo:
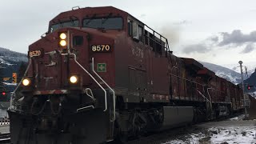
[[[122,30],[122,18],[86,18],[83,27],[104,30]]]

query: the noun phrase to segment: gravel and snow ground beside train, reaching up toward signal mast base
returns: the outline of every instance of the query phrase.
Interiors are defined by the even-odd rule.
[[[161,144],[256,144],[256,119],[242,119],[244,114],[227,121],[206,122],[185,134],[159,142]]]

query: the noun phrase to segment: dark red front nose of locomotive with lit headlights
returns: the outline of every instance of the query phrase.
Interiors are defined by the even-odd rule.
[[[29,51],[32,64],[27,78],[30,79],[30,86],[34,90],[65,90],[70,86],[72,89],[81,86],[86,74],[81,74],[74,57],[64,54],[75,54],[78,62],[88,70],[90,66],[86,38],[86,32],[64,28],[55,30],[32,44]]]

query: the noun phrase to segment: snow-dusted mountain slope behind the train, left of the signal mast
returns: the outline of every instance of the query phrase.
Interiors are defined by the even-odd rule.
[[[201,63],[203,66],[205,66],[209,70],[214,71],[214,73],[221,78],[225,78],[226,80],[233,82],[234,84],[238,84],[241,82],[241,74],[239,74],[234,70],[230,70],[226,67],[218,66],[208,62],[201,62]]]

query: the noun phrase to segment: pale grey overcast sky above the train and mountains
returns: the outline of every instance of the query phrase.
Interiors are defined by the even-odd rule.
[[[255,0],[0,0],[0,47],[27,53],[48,22],[73,6],[115,6],[169,39],[180,57],[256,63]]]

